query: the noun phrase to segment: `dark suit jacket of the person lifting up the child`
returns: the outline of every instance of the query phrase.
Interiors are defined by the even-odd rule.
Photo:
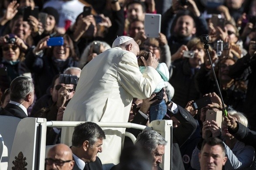
[[[189,137],[195,132],[197,123],[188,111],[186,111],[179,105],[177,106],[179,108],[179,111],[176,114],[173,114],[173,116],[178,119],[181,124],[178,127],[173,128],[172,131],[172,170],[185,170],[179,147],[181,147],[185,143],[185,141],[187,141]],[[169,110],[167,110],[167,112],[169,115],[172,114]],[[141,116],[140,113],[137,113],[131,123],[145,125],[147,121],[148,120]],[[138,136],[138,131],[140,130],[136,131],[136,129],[127,129],[126,131],[129,131],[132,134],[135,133],[134,135]]]

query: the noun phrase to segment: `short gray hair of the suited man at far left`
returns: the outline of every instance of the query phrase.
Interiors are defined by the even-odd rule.
[[[20,103],[30,93],[34,93],[32,78],[20,76],[13,79],[10,84],[10,100]]]

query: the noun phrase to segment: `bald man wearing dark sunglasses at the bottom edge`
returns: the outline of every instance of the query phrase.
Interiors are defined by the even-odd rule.
[[[46,170],[72,170],[72,150],[65,144],[57,144],[48,151],[45,163]]]

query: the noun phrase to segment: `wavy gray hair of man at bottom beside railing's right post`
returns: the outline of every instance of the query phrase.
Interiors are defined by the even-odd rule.
[[[158,132],[153,130],[145,130],[138,134],[135,141],[135,145],[139,145],[149,150],[150,152],[155,151],[158,145],[165,146],[167,141]]]

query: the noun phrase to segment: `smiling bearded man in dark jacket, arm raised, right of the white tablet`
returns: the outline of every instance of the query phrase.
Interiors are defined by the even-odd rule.
[[[195,1],[189,0],[185,6],[178,0],[172,1],[172,7],[162,16],[161,32],[168,39],[172,61],[182,58],[190,39],[208,34],[207,22]]]

